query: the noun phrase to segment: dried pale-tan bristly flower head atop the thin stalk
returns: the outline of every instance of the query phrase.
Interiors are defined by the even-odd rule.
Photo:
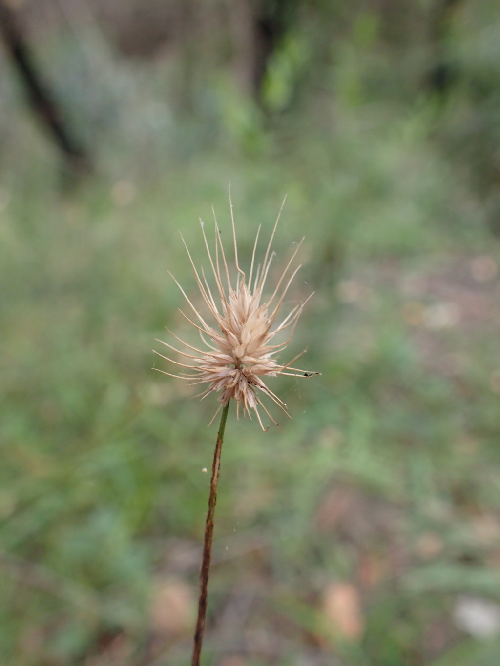
[[[208,384],[208,388],[199,394],[199,396],[202,396],[202,400],[213,391],[220,392],[220,406],[217,409],[217,412],[215,412],[213,418],[217,416],[221,408],[225,406],[229,400],[231,400],[231,398],[234,398],[237,405],[237,415],[239,415],[239,408],[241,407],[243,410],[243,416],[248,414],[251,418],[250,412],[253,410],[257,415],[257,420],[259,421],[261,428],[263,430],[267,430],[262,424],[258,409],[259,407],[262,407],[264,412],[267,414],[267,416],[269,416],[275,425],[277,425],[277,423],[271,414],[269,414],[265,406],[261,403],[259,392],[268,398],[271,398],[271,400],[275,402],[275,404],[277,404],[277,406],[279,406],[279,408],[281,408],[285,414],[288,414],[288,412],[285,403],[264,384],[263,378],[275,377],[279,374],[297,377],[309,377],[311,375],[320,374],[319,372],[305,372],[305,370],[299,370],[299,368],[291,367],[295,360],[297,360],[299,356],[302,356],[304,352],[296,356],[285,366],[280,365],[274,358],[287,346],[291,340],[291,336],[295,330],[295,324],[297,324],[297,320],[303,310],[303,307],[313,294],[306,298],[303,303],[297,304],[287,314],[287,316],[285,316],[285,318],[283,318],[283,320],[281,320],[277,326],[273,328],[277,319],[279,308],[283,304],[285,294],[287,294],[289,286],[297,274],[297,271],[299,268],[301,268],[301,265],[297,266],[297,268],[292,270],[290,274],[291,265],[295,259],[295,256],[297,255],[297,252],[299,251],[303,239],[301,242],[299,242],[299,244],[297,244],[297,248],[295,248],[295,251],[287,263],[287,266],[285,267],[285,270],[283,270],[281,278],[279,278],[273,294],[265,302],[261,302],[263,289],[269,274],[269,268],[271,266],[273,257],[275,256],[275,253],[271,252],[271,245],[275,236],[277,224],[279,222],[281,210],[283,210],[283,204],[285,203],[285,200],[283,200],[283,204],[281,204],[271,238],[269,239],[269,243],[265,251],[264,260],[262,264],[259,264],[255,268],[255,252],[257,250],[257,242],[259,240],[261,226],[259,226],[259,229],[257,230],[248,279],[247,274],[240,268],[238,262],[238,250],[231,194],[229,194],[229,203],[231,205],[234,260],[237,272],[234,287],[231,284],[226,254],[221,241],[219,227],[217,226],[217,220],[215,219],[215,213],[215,256],[213,256],[212,252],[210,251],[207,236],[205,234],[204,224],[203,221],[200,220],[201,230],[203,232],[203,238],[205,240],[205,246],[207,248],[211,270],[215,278],[215,286],[221,301],[220,306],[217,306],[217,302],[213,296],[209,282],[205,277],[203,268],[201,268],[200,275],[197,268],[195,267],[193,259],[191,258],[191,254],[187,248],[184,238],[182,238],[181,235],[183,244],[187,251],[187,256],[189,256],[189,261],[193,267],[193,272],[195,274],[196,282],[201,292],[201,296],[203,297],[203,300],[205,301],[211,316],[215,320],[216,326],[211,326],[207,323],[205,318],[203,318],[197,308],[195,308],[191,300],[189,300],[187,294],[179,282],[177,282],[177,280],[175,280],[175,278],[170,274],[173,280],[175,280],[177,286],[179,286],[179,289],[183,293],[183,296],[191,307],[191,310],[193,310],[198,323],[193,322],[187,315],[182,312],[182,310],[181,314],[185,316],[190,324],[199,330],[201,339],[203,340],[203,343],[207,349],[197,349],[190,344],[187,344],[187,342],[184,342],[181,340],[181,338],[178,338],[175,334],[169,331],[169,333],[171,333],[171,335],[173,335],[176,340],[181,342],[181,344],[183,344],[187,350],[194,352],[194,355],[189,354],[187,351],[183,352],[177,350],[167,342],[163,342],[163,340],[157,340],[157,342],[161,342],[161,344],[164,344],[166,347],[173,350],[177,354],[181,354],[181,356],[191,359],[191,364],[179,363],[172,360],[171,358],[168,358],[167,356],[163,356],[163,354],[159,354],[159,352],[155,353],[159,354],[161,358],[165,358],[165,360],[168,360],[169,362],[180,366],[181,368],[193,370],[193,372],[190,374],[185,372],[182,372],[181,374],[171,374],[170,372],[165,372],[163,370],[159,370],[159,372],[163,372],[163,374],[167,374],[171,377],[188,380],[191,382],[191,384]],[[225,286],[223,284],[223,280],[225,281]],[[253,288],[251,286],[252,280]],[[287,329],[289,330],[289,336],[287,340],[279,344],[269,344],[274,336]],[[209,340],[207,340],[207,338],[209,338]]]

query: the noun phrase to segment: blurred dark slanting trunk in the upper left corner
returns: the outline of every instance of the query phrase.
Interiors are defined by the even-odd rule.
[[[29,103],[39,117],[72,172],[91,170],[89,155],[71,135],[53,96],[42,82],[33,55],[13,10],[0,0],[0,34],[5,48],[25,86]]]

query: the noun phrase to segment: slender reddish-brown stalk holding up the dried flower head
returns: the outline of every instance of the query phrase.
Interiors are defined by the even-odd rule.
[[[207,521],[205,522],[205,540],[203,541],[203,560],[201,562],[201,571],[199,575],[199,600],[198,600],[198,619],[196,622],[195,639],[193,646],[193,661],[191,666],[199,666],[201,656],[201,644],[203,643],[203,634],[205,633],[205,617],[207,616],[207,588],[210,570],[210,561],[212,559],[212,539],[213,539],[213,519],[215,516],[215,505],[217,503],[217,482],[219,481],[219,472],[221,471],[221,450],[222,440],[224,438],[224,429],[226,426],[227,412],[229,411],[229,401],[224,405],[221,415],[221,424],[217,433],[217,443],[213,452],[212,478],[210,481],[209,508],[207,512]]]

